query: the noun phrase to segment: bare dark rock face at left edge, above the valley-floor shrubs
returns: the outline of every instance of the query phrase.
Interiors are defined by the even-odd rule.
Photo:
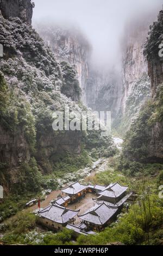
[[[5,164],[5,175],[0,170],[1,184],[4,185],[5,191],[11,184],[16,184],[20,179],[20,166],[24,161],[30,159],[30,150],[27,140],[21,130],[9,132],[0,126],[0,163]]]

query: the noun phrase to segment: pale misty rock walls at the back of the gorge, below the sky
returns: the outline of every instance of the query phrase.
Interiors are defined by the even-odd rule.
[[[91,62],[91,46],[78,29],[47,25],[35,26],[59,62],[76,69],[82,101],[93,111],[111,111],[112,128],[124,135],[143,103],[151,97],[148,63],[143,45],[155,12],[130,22],[121,41],[122,72]]]

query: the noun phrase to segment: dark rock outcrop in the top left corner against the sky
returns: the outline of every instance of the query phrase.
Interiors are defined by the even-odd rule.
[[[0,0],[0,10],[5,19],[19,17],[22,21],[32,23],[34,3],[30,0]]]

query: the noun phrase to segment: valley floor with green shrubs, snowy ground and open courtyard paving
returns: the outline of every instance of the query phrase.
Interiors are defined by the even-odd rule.
[[[119,144],[119,147],[121,148],[121,144]],[[80,169],[77,172],[82,174],[80,176],[82,178],[79,181],[84,184],[105,185],[118,181],[122,185],[129,186],[130,190],[134,190],[137,193],[136,202],[134,205],[130,205],[129,212],[124,208],[120,216],[117,217],[117,221],[112,223],[105,231],[99,233],[96,237],[89,236],[84,238],[79,236],[77,241],[74,242],[70,230],[63,230],[60,233],[54,234],[47,232],[37,225],[35,223],[35,216],[30,214],[30,212],[37,209],[37,205],[34,205],[19,211],[15,216],[0,224],[0,227],[4,225],[4,229],[0,233],[1,236],[3,235],[2,239],[13,243],[32,245],[65,245],[67,243],[106,245],[110,242],[122,242],[129,245],[163,244],[163,202],[158,196],[159,182],[161,182],[159,180],[161,180],[160,175],[163,171],[163,166],[161,164],[145,164],[142,173],[141,169],[138,170],[137,163],[133,163],[133,167],[136,164],[137,173],[130,174],[133,171],[133,167],[125,172],[124,170],[120,172],[117,168],[118,164],[120,164],[118,161],[118,156],[110,157],[109,159],[99,159],[92,163],[91,167]],[[64,183],[62,187],[70,184],[71,180],[68,180],[67,184]],[[57,198],[60,194],[60,190],[52,191],[41,202],[41,208],[48,206],[51,200]],[[95,203],[92,200],[94,196],[92,193],[87,193],[81,202],[68,205],[68,208],[72,210],[80,209],[80,211],[85,212]],[[26,218],[26,221],[24,218]],[[76,218],[76,223],[78,222],[79,220]],[[66,237],[66,240],[64,237]]]

